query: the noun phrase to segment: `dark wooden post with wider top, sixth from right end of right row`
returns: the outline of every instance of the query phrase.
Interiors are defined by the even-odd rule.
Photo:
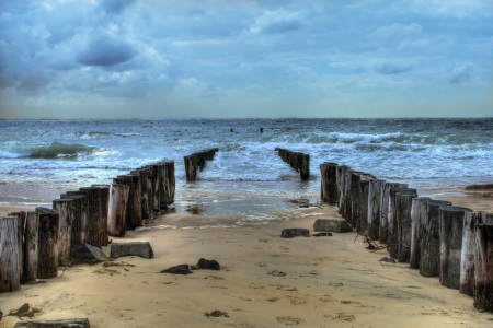
[[[411,208],[416,189],[405,189],[395,194],[395,222],[398,225],[398,260],[409,262],[411,258]]]

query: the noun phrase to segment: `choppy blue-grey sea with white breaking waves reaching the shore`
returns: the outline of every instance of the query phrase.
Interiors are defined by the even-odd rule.
[[[183,157],[218,148],[185,179]],[[310,179],[284,163],[284,148],[310,155]],[[493,118],[0,120],[0,206],[50,207],[68,190],[147,164],[175,162],[177,211],[272,218],[318,202],[319,164],[347,165],[420,196],[493,183]]]

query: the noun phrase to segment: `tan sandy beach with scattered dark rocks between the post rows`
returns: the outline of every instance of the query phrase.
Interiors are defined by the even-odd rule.
[[[484,192],[461,200],[492,210]],[[493,315],[478,312],[472,297],[406,263],[379,261],[387,251],[366,249],[356,233],[280,238],[285,227],[312,234],[313,222],[328,218],[339,218],[336,208],[297,209],[241,227],[231,226],[233,218],[171,212],[113,238],[150,242],[153,259],[59,268],[56,279],[1,294],[0,309],[7,315],[30,303],[39,309],[34,320],[89,318],[91,327],[491,327]],[[200,258],[221,270],[159,273]],[[4,316],[0,327],[16,321]]]

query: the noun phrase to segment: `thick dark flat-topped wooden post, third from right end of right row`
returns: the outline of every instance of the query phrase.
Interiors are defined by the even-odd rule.
[[[440,283],[449,289],[460,286],[460,257],[462,248],[463,218],[470,209],[442,207],[438,210],[440,236]]]

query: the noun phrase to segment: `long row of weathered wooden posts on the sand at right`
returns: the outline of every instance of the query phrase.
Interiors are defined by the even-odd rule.
[[[406,184],[389,183],[336,163],[320,164],[321,200],[392,258],[425,277],[474,297],[493,312],[493,214],[419,197]]]

